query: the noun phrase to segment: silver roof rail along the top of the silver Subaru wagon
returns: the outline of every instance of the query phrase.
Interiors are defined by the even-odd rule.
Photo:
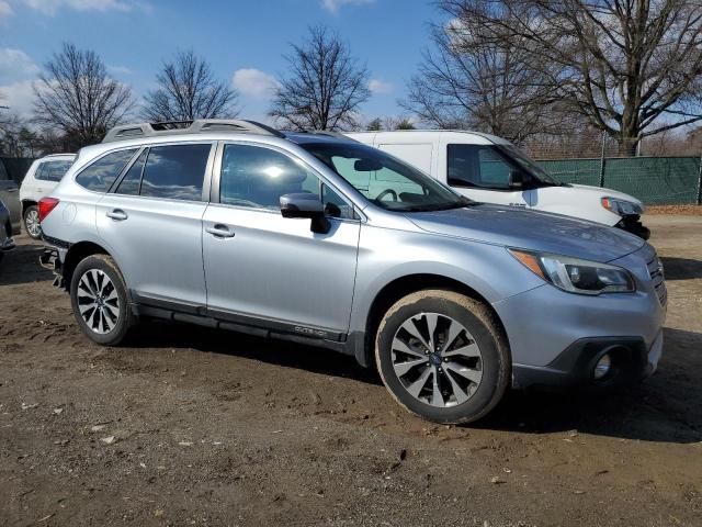
[[[201,134],[207,132],[235,132],[285,137],[278,130],[256,121],[241,119],[195,119],[192,121],[162,121],[158,123],[122,124],[111,128],[103,143],[126,141],[136,137],[158,137],[173,134]]]

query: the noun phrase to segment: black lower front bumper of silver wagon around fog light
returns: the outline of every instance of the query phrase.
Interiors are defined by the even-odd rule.
[[[632,384],[649,377],[658,367],[663,351],[663,332],[647,347],[641,337],[592,337],[570,345],[544,367],[514,365],[512,385],[525,388],[610,388]],[[612,369],[596,380],[595,366],[610,355]]]

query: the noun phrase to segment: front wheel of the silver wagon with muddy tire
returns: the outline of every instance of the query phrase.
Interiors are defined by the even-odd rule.
[[[396,302],[380,324],[375,358],[397,402],[435,423],[485,416],[502,399],[511,374],[507,339],[490,310],[443,290]]]

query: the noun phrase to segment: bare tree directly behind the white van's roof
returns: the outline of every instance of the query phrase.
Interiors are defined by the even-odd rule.
[[[489,2],[469,2],[487,18]],[[478,16],[464,16],[455,2],[440,4],[448,23],[435,25],[433,51],[426,51],[419,72],[400,104],[440,128],[477,128],[522,142],[554,130],[554,101],[524,37],[496,38]],[[509,13],[529,16],[529,11]]]

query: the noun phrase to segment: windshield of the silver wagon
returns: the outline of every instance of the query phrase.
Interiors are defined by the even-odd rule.
[[[367,200],[388,211],[441,211],[471,203],[467,198],[376,148],[350,143],[306,143],[299,146],[346,179]]]

